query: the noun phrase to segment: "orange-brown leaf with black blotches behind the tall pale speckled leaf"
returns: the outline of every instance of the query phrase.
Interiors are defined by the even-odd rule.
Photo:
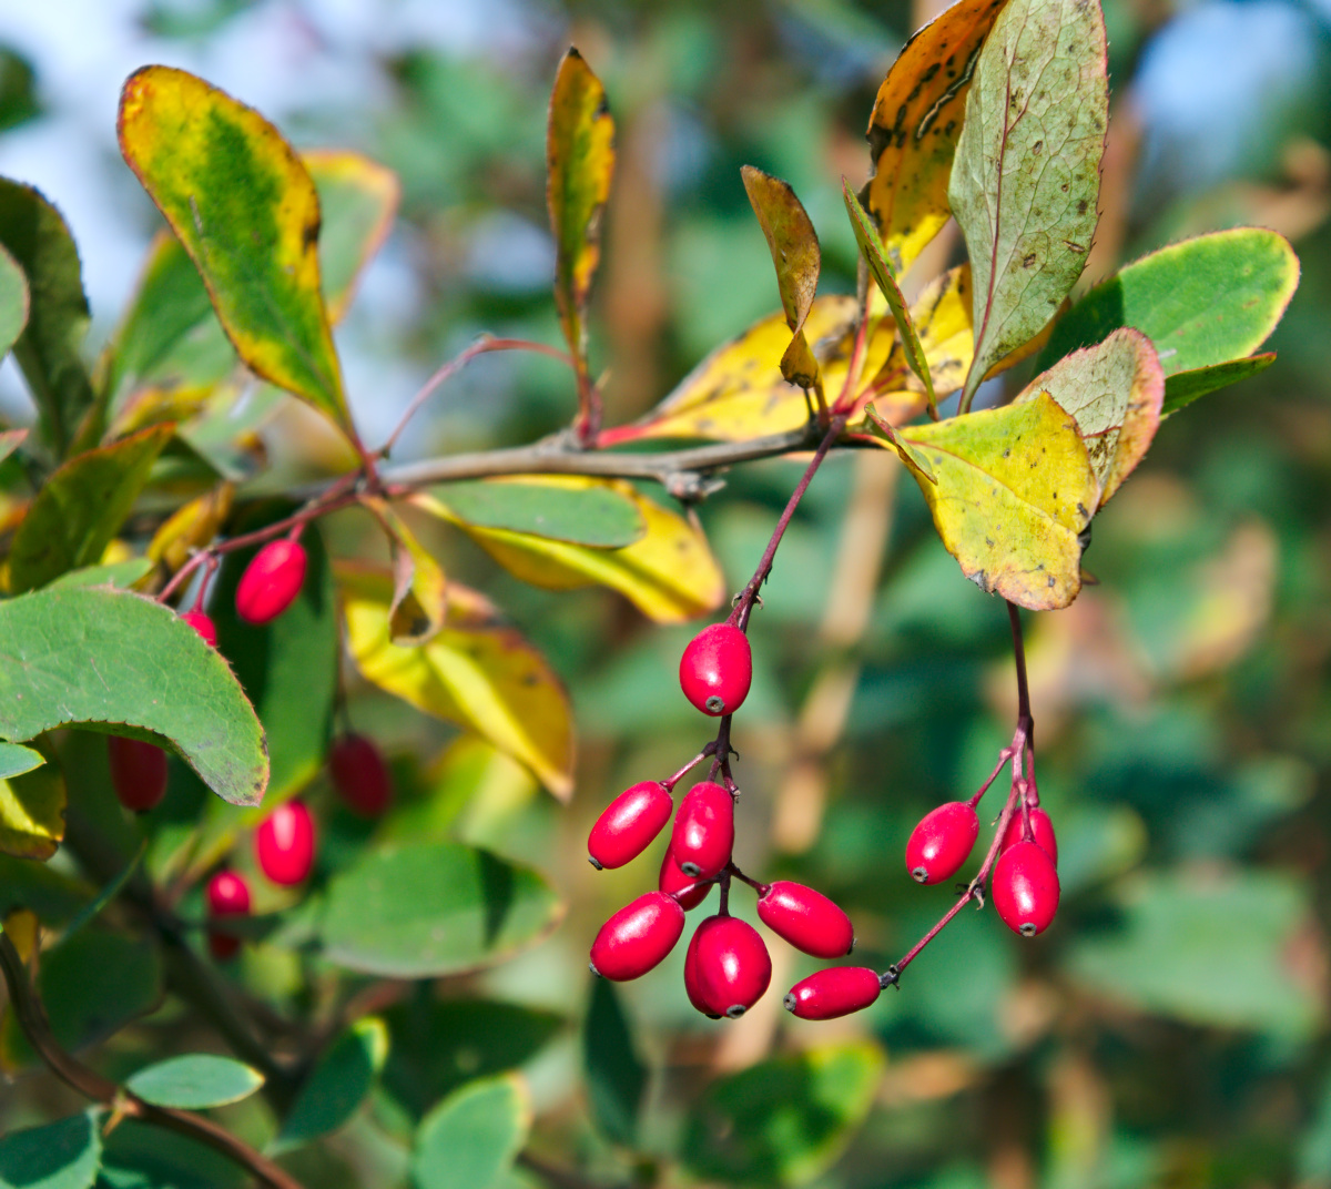
[[[897,273],[948,221],[948,177],[970,80],[1005,0],[960,0],[918,29],[888,71],[869,117],[873,177],[862,201]]]

